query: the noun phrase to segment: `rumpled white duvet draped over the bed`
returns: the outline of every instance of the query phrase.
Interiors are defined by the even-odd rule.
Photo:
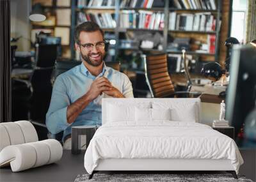
[[[207,125],[177,121],[101,126],[84,155],[86,171],[92,174],[99,159],[106,158],[229,159],[237,173],[243,164],[230,137]]]

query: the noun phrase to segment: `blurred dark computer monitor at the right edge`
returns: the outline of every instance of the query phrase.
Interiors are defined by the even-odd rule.
[[[227,92],[226,119],[235,128],[235,138],[246,117],[255,109],[256,49],[249,45],[234,45]],[[255,138],[256,139],[256,138]]]

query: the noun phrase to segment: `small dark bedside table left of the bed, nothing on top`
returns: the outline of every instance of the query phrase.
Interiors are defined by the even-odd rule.
[[[81,153],[81,135],[86,135],[86,148],[88,147],[90,140],[95,133],[96,127],[94,125],[88,126],[73,126],[71,129],[71,153],[79,154]]]

